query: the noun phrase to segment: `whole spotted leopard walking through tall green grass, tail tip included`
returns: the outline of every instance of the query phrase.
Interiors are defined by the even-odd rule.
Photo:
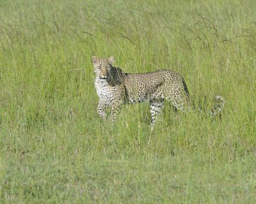
[[[97,112],[102,119],[108,120],[108,106],[111,106],[110,122],[113,124],[122,105],[149,102],[153,130],[164,101],[170,101],[175,110],[182,112],[193,109],[186,82],[177,71],[159,69],[148,73],[125,73],[113,66],[114,62],[113,56],[108,59],[92,57],[95,89],[99,96]],[[216,104],[211,110],[212,118],[220,116],[224,106],[221,96],[216,96],[215,100]]]

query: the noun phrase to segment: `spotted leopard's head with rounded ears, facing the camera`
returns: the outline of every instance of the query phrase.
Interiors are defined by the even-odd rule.
[[[106,81],[108,79],[109,71],[112,68],[112,64],[115,62],[114,57],[109,57],[109,59],[99,59],[98,57],[92,57],[92,64],[94,67],[94,73],[96,77],[99,77],[101,81]]]

